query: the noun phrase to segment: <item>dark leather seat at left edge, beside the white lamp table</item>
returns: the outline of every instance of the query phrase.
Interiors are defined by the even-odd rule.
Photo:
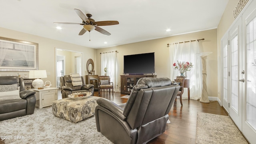
[[[28,114],[34,114],[36,106],[35,91],[25,90],[23,78],[0,76],[0,85],[18,84],[22,99],[0,101],[0,121]]]

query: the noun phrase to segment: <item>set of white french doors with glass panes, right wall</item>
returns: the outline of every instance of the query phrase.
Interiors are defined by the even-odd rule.
[[[221,41],[222,106],[250,143],[256,142],[255,6],[250,1]]]

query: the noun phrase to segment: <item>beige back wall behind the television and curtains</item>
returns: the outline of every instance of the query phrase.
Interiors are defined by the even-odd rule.
[[[201,32],[193,32],[189,34],[182,34],[177,36],[171,36],[167,38],[159,38],[155,40],[148,40],[144,42],[136,42],[132,44],[124,44],[120,46],[113,46],[108,48],[97,49],[96,52],[96,69],[100,72],[100,52],[118,51],[118,66],[119,75],[123,73],[123,56],[130,54],[141,54],[148,52],[155,52],[155,70],[157,77],[169,77],[169,69],[172,64],[169,63],[169,48],[168,43],[182,42],[188,40],[202,39],[204,52],[213,52],[208,56],[207,67],[207,83],[209,96],[217,97],[218,84],[217,84],[217,29],[205,30]],[[98,74],[98,73],[97,73]],[[100,75],[100,74],[98,74]],[[120,76],[118,76],[118,88],[120,87]]]

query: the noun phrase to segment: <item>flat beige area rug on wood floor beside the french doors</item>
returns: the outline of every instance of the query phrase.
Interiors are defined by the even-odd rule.
[[[196,121],[196,144],[248,144],[229,116],[200,112]]]

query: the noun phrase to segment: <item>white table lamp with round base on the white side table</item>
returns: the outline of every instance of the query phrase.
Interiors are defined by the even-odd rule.
[[[30,70],[28,78],[35,78],[32,82],[34,88],[43,88],[44,81],[39,78],[47,78],[46,70]]]

